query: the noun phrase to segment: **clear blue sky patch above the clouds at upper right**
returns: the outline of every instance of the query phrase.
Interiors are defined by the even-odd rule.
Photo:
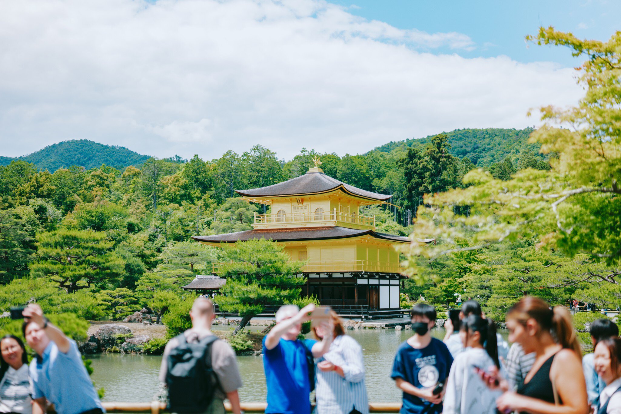
[[[579,65],[568,49],[527,45],[524,37],[540,26],[573,32],[579,38],[607,40],[621,30],[621,1],[599,0],[330,0],[368,20],[428,33],[459,32],[473,50],[438,48],[466,58],[507,55],[520,62],[555,61]]]

